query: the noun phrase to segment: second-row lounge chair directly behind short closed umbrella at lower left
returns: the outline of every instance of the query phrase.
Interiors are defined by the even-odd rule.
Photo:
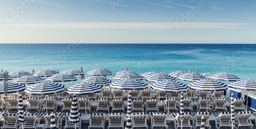
[[[60,99],[55,100],[54,98],[44,97],[44,106],[42,110],[53,110],[54,112],[57,111],[57,103],[60,102]]]

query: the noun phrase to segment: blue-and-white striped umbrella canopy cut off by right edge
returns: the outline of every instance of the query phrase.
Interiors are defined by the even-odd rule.
[[[240,80],[228,84],[229,88],[246,90],[246,91],[256,91],[256,81],[254,80]]]

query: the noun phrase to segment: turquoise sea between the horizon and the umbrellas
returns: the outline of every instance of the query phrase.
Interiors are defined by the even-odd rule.
[[[0,44],[0,60],[0,69],[8,72],[47,68],[61,73],[82,66],[84,72],[106,68],[116,73],[128,67],[139,74],[168,74],[198,68],[199,73],[226,72],[256,80],[256,45],[248,44]]]

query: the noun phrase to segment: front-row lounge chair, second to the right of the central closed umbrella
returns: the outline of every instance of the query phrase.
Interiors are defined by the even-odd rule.
[[[166,124],[166,117],[167,115],[165,113],[150,112],[151,128],[154,126],[162,126],[167,129],[168,125]]]

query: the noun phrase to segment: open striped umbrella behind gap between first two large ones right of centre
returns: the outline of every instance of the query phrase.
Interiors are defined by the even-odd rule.
[[[196,74],[196,73],[185,73],[182,74],[178,77],[179,80],[183,80],[183,81],[189,81],[189,82],[193,82],[193,81],[197,81],[197,80],[201,80],[201,79],[205,79],[205,77],[201,74]]]

